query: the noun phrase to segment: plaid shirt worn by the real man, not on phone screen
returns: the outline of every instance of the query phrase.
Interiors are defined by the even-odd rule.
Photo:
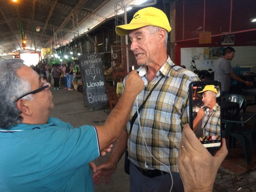
[[[199,81],[199,78],[195,73],[173,65],[174,63],[168,57],[153,81],[148,84],[146,74],[142,77],[145,87],[135,99],[130,121],[127,123],[129,134],[131,119],[134,113],[137,113],[137,101],[138,107],[140,107],[153,86],[161,76],[164,76],[141,109],[139,119],[135,120],[128,139],[129,159],[142,169],[145,169],[146,161],[147,169],[169,172],[164,165],[153,159],[150,151],[158,161],[168,166],[171,171],[178,172],[177,157],[181,132],[183,126],[189,122],[189,83]],[[143,141],[139,123],[149,151]]]

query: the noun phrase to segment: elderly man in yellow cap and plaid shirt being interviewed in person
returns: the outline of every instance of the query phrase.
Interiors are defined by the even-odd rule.
[[[130,191],[184,191],[177,157],[181,132],[189,121],[189,83],[199,78],[175,65],[167,55],[170,31],[167,16],[154,7],[139,10],[129,24],[116,26],[118,35],[129,35],[145,87],[110,158],[97,167],[93,176],[96,184],[104,177],[109,182],[128,149]]]

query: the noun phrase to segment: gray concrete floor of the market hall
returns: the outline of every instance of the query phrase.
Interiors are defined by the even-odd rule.
[[[69,122],[73,126],[79,126],[84,124],[102,125],[110,112],[109,109],[91,111],[89,107],[84,107],[83,94],[79,93],[78,91],[67,91],[64,89],[53,90],[53,87],[51,87],[51,91],[55,104],[51,116]],[[249,108],[247,108],[247,110],[248,112],[255,112],[255,106],[250,106]],[[232,154],[234,156],[234,161],[239,159],[239,162],[241,162],[241,150],[235,155],[234,151],[232,151]],[[96,164],[100,164],[101,162],[104,162],[106,158],[108,158],[108,156],[99,157],[95,160],[95,162]],[[230,158],[230,156],[228,156],[227,158]],[[223,166],[219,168],[215,180],[214,192],[256,191],[255,159],[256,158],[253,158],[253,165],[245,165],[246,167],[243,168],[245,168],[246,171],[243,171],[242,173],[239,172],[239,174],[235,172],[237,168],[235,168],[234,172],[232,172],[232,169],[230,169],[230,167],[226,164],[226,162],[228,161],[228,159],[226,159],[227,161],[224,161]],[[232,163],[234,163],[234,161]],[[111,176],[110,183],[108,185],[105,185],[105,182],[103,182],[100,185],[96,185],[95,192],[129,192],[129,175],[124,172],[123,165],[124,156],[118,163],[117,170]],[[204,190],[202,189],[202,191]]]

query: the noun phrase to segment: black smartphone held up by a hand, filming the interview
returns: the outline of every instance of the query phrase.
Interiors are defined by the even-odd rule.
[[[189,84],[189,125],[208,150],[221,147],[221,84],[194,81]]]

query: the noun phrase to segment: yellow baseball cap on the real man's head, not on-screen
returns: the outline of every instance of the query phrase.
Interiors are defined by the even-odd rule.
[[[172,29],[163,11],[155,7],[147,7],[137,11],[129,24],[116,26],[116,33],[118,35],[128,35],[131,32],[130,30],[148,25],[161,27],[168,32]]]

